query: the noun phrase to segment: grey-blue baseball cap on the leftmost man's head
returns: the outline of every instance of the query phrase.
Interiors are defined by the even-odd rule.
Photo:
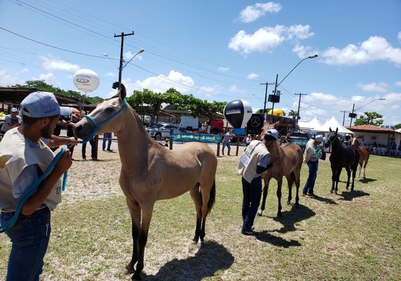
[[[23,115],[34,118],[51,117],[60,114],[60,105],[53,93],[33,92],[21,103]]]

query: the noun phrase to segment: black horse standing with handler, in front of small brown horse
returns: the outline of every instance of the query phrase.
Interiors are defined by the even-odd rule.
[[[340,174],[341,170],[345,168],[347,170],[348,174],[348,180],[347,180],[347,189],[350,186],[350,176],[351,176],[351,170],[352,170],[352,185],[351,185],[351,190],[354,190],[354,180],[355,180],[355,175],[357,174],[357,167],[359,163],[359,150],[355,150],[355,148],[350,145],[346,146],[345,148],[343,145],[341,145],[340,140],[338,139],[337,136],[338,128],[336,131],[331,131],[330,128],[330,133],[329,136],[327,136],[327,142],[325,144],[326,148],[329,148],[331,145],[331,155],[330,155],[330,164],[331,164],[331,190],[330,192],[334,192],[337,194],[338,190],[338,181],[340,181]],[[336,183],[336,186],[334,186],[334,183]]]

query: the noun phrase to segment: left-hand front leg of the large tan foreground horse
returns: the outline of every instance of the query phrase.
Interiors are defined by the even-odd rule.
[[[129,261],[127,266],[125,266],[125,275],[134,273],[134,265],[139,257],[138,237],[139,229],[141,228],[141,208],[139,207],[138,202],[131,202],[128,198],[126,198],[126,201],[132,221],[132,259]]]

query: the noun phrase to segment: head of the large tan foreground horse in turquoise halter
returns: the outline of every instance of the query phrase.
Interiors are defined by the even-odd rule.
[[[119,131],[124,122],[121,122],[120,112],[127,107],[125,100],[127,91],[121,84],[117,94],[100,103],[94,111],[74,126],[74,135],[87,141],[101,133],[113,133]]]

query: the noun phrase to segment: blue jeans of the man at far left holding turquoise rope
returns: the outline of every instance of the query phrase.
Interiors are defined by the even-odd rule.
[[[1,213],[1,224],[13,213]],[[12,246],[8,258],[7,281],[38,281],[51,233],[50,210],[45,207],[31,216],[20,214],[13,228],[6,231]]]

